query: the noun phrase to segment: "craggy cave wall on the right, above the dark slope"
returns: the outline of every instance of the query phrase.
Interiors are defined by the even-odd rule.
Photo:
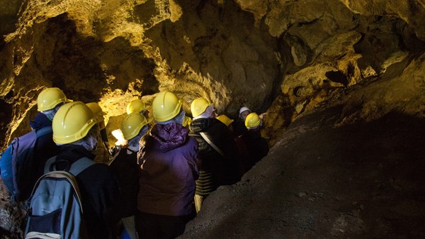
[[[333,104],[346,105],[341,124],[390,111],[424,117],[423,2],[238,4],[277,38],[280,91],[265,129],[272,143],[300,113]]]

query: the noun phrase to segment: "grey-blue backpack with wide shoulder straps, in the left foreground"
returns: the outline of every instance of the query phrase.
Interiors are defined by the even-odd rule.
[[[87,238],[81,195],[75,177],[95,162],[82,157],[69,171],[55,169],[56,157],[45,164],[45,174],[38,179],[30,196],[25,239]],[[51,171],[51,172],[50,172]]]

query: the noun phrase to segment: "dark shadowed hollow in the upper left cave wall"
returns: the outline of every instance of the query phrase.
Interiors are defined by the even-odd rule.
[[[66,13],[48,21],[41,41],[45,46],[35,48],[35,64],[47,81],[63,89],[70,99],[98,101],[105,89],[126,91],[130,82],[134,82],[132,89],[146,94],[158,89],[154,62],[142,50],[133,48],[124,38],[103,43],[94,37],[83,37]]]

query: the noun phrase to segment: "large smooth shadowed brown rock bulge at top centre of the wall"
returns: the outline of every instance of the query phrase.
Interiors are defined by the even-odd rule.
[[[278,95],[275,82],[282,78],[274,55],[276,38],[268,33],[266,24],[255,26],[253,14],[240,9],[234,1],[178,4],[183,11],[178,21],[162,21],[145,33],[159,48],[171,71],[176,72],[176,84],[186,88],[187,84],[181,82],[189,81],[191,87],[185,93],[190,92],[192,97],[220,91],[210,89],[200,77],[223,84],[226,91],[232,92],[232,101],[221,110],[232,117],[244,104],[251,104],[256,111],[266,111]],[[153,11],[152,5],[147,2],[136,6],[135,16],[146,19],[143,13]],[[195,79],[185,78],[187,68],[182,67],[186,64],[195,72]],[[258,94],[247,94],[255,87]],[[217,98],[222,96],[220,93]]]

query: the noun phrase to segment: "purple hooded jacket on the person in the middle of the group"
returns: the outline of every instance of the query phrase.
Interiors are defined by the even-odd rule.
[[[137,209],[165,216],[191,214],[200,163],[195,138],[180,124],[157,124],[140,148]]]

